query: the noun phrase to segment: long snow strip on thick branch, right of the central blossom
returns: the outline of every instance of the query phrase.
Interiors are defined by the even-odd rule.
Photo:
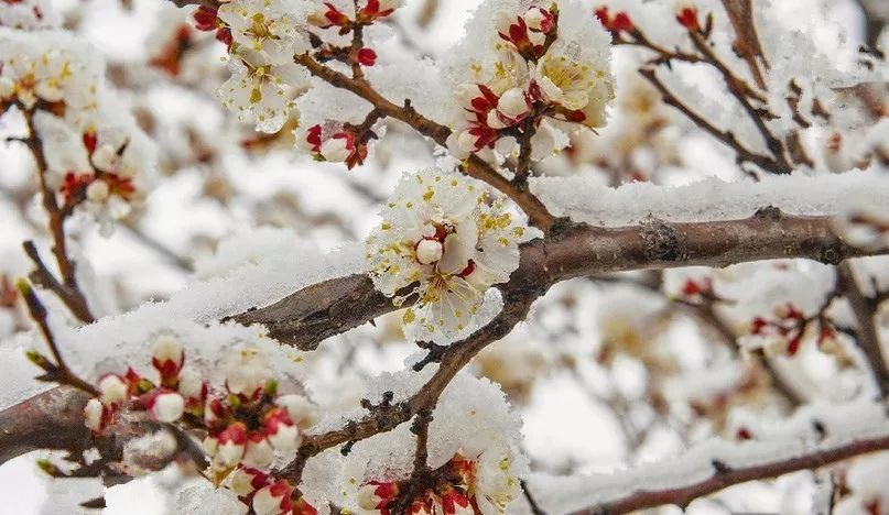
[[[589,175],[531,179],[555,216],[604,227],[637,223],[649,215],[674,222],[747,218],[774,206],[793,215],[837,215],[850,208],[886,209],[889,175],[852,171],[838,175],[766,176],[760,182],[708,178],[684,186],[633,183],[610,188]]]

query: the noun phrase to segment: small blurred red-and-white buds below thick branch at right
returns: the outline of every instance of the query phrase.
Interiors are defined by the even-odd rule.
[[[768,354],[795,355],[800,351],[803,338],[811,327],[817,326],[815,341],[824,352],[837,350],[836,329],[823,315],[806,318],[792,303],[780,304],[773,309],[774,319],[754,317],[750,333],[769,338],[765,347]],[[817,321],[817,324],[811,324]]]

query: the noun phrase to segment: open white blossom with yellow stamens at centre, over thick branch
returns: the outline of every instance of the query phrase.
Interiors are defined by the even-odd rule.
[[[421,339],[463,331],[485,292],[518,267],[527,235],[502,197],[434,168],[405,174],[381,215],[367,242],[370,274],[395,304],[416,299],[403,320]]]

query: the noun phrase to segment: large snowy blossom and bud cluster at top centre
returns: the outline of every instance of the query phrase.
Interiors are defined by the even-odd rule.
[[[497,12],[492,59],[470,63],[469,81],[455,88],[464,112],[451,144],[458,156],[536,130],[546,118],[605,125],[614,98],[608,36],[560,13],[555,3]]]

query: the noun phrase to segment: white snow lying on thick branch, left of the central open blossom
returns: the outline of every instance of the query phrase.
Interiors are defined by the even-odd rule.
[[[275,237],[278,244],[272,245],[270,242]],[[264,253],[261,259],[245,251],[246,245],[258,244],[258,241],[262,242]],[[189,362],[207,371],[218,369],[217,361],[226,355],[223,350],[229,348],[258,347],[270,355],[292,357],[289,348],[282,349],[273,340],[263,338],[262,328],[234,322],[223,325],[217,320],[253,306],[271,304],[310,284],[364,270],[361,245],[349,244],[325,252],[285,230],[265,229],[250,235],[235,235],[219,249],[229,258],[217,255],[205,263],[203,272],[221,271],[224,275],[195,281],[167,302],[147,303],[133,311],[105,317],[82,328],[68,327],[62,324],[61,316],[51,316],[66,361],[76,372],[91,379],[104,372],[120,372],[129,364],[137,369],[144,365],[143,372],[148,373],[148,348],[160,333],[178,337]],[[39,371],[23,358],[23,351],[29,348],[45,351],[45,343],[35,331],[0,342],[0,358],[3,358],[0,373],[12,379],[4,383],[0,408],[50,387],[33,380]],[[294,360],[273,361],[279,373],[300,376]]]

